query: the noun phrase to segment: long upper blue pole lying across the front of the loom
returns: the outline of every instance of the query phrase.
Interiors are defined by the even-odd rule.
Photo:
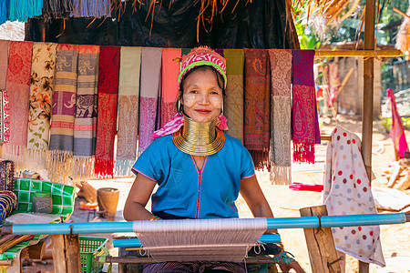
[[[410,222],[410,213],[386,213],[365,215],[343,215],[322,217],[275,217],[265,218],[266,229],[277,228],[317,228],[317,227],[357,227],[403,224]],[[239,222],[252,221],[253,219],[222,219],[222,221],[234,220]],[[43,235],[43,234],[92,234],[92,233],[116,233],[138,232],[135,226],[145,223],[149,230],[151,227],[167,228],[173,222],[182,223],[182,227],[189,224],[198,228],[203,224],[211,227],[212,221],[220,219],[184,219],[167,221],[135,221],[135,222],[96,222],[96,223],[53,223],[53,224],[19,224],[2,227],[2,234],[13,235]],[[183,222],[185,221],[185,222]],[[209,225],[210,224],[210,225]]]

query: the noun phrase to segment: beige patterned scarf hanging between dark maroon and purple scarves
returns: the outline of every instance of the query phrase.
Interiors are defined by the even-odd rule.
[[[292,120],[292,50],[270,49],[272,73],[271,181],[290,185]]]

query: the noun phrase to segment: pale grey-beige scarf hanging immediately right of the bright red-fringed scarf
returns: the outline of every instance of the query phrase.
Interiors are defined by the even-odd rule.
[[[137,157],[141,47],[121,47],[116,176],[128,177]]]

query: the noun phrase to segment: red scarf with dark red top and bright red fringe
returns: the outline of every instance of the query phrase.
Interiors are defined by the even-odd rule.
[[[119,46],[101,46],[98,71],[97,177],[114,176],[114,140],[117,133]]]

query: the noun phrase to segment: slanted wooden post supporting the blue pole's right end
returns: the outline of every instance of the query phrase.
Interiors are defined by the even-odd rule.
[[[326,206],[302,207],[301,217],[327,216]],[[342,272],[334,248],[333,235],[330,227],[303,228],[304,237],[311,260],[312,272],[333,273]]]

